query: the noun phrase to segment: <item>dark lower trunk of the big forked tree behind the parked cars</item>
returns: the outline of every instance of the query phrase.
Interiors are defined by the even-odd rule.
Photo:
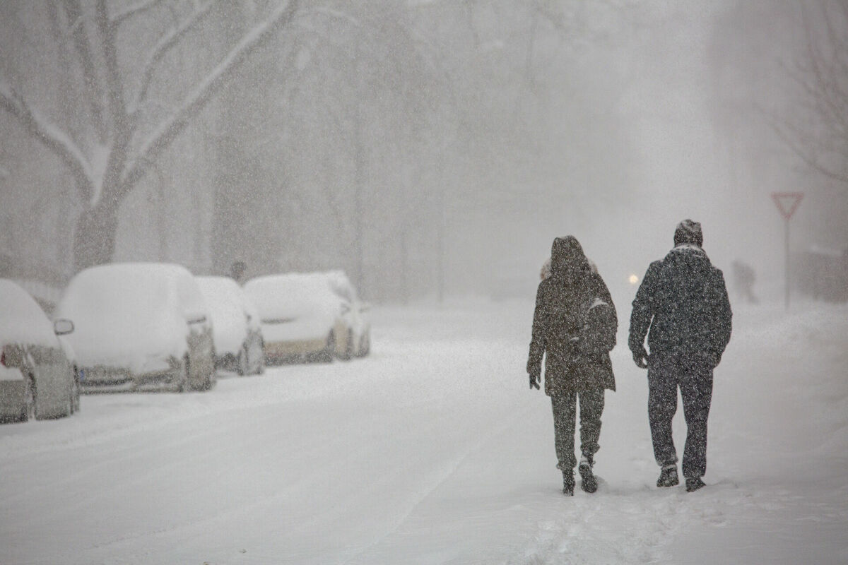
[[[119,202],[102,202],[84,210],[76,220],[74,272],[109,263],[118,232]]]

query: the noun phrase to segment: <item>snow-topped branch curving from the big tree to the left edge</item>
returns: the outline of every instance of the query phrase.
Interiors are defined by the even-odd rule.
[[[74,175],[81,196],[86,201],[92,197],[91,166],[70,136],[37,114],[19,92],[14,91],[3,81],[0,81],[0,108],[17,118],[20,125],[23,125],[31,136],[41,141],[62,159]]]

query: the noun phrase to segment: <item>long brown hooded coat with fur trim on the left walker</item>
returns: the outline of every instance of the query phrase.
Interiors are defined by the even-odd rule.
[[[616,390],[610,350],[618,320],[612,296],[572,235],[557,237],[551,273],[536,292],[527,373],[541,374],[548,396]]]

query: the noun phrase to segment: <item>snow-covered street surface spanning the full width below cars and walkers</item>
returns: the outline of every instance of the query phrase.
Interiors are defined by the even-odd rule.
[[[848,562],[848,308],[734,311],[696,493],[654,487],[626,305],[573,498],[530,302],[377,308],[365,359],[0,426],[0,563]]]

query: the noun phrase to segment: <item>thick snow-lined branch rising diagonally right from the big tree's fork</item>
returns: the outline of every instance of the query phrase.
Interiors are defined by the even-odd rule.
[[[176,112],[166,119],[147,141],[142,143],[137,158],[121,180],[121,196],[144,176],[149,163],[155,162],[159,154],[176,139],[182,130],[186,129],[191,120],[204,108],[220,86],[230,78],[235,69],[248,58],[248,55],[267,41],[274,31],[291,22],[297,9],[298,0],[288,0],[278,6],[268,19],[249,30],[220,64],[189,93]]]

